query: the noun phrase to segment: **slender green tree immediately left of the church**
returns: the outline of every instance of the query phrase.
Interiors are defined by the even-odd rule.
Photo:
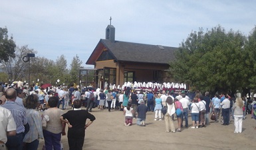
[[[72,59],[72,63],[70,64],[70,79],[69,83],[78,83],[79,80],[79,69],[82,65],[82,61],[79,59],[79,57],[76,55]]]

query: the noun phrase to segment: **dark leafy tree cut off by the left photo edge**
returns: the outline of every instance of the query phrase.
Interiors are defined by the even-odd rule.
[[[10,58],[15,57],[16,44],[13,36],[8,38],[7,28],[0,28],[0,62],[7,62]]]

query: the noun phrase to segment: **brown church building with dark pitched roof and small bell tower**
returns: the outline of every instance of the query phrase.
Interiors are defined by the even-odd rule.
[[[122,86],[128,81],[170,82],[167,71],[176,50],[178,48],[115,40],[115,28],[110,24],[106,27],[106,39],[100,39],[86,61],[87,65],[94,65],[94,79],[84,82],[85,86],[90,83],[104,89],[106,85]],[[88,75],[80,70],[80,76],[82,72]]]

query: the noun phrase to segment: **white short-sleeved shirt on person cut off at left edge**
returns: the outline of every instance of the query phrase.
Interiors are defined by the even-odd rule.
[[[0,141],[7,142],[7,131],[16,130],[16,124],[11,114],[11,111],[7,108],[0,106]]]

